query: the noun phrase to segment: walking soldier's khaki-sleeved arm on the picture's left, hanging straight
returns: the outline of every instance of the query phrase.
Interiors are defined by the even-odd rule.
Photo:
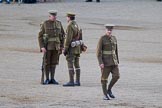
[[[99,65],[103,64],[103,61],[102,61],[102,37],[99,39],[96,54],[97,54],[97,59],[98,59]]]

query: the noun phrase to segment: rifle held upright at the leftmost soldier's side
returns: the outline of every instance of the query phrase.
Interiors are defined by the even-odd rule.
[[[44,74],[46,73],[46,60],[47,60],[47,44],[48,44],[48,34],[43,35],[43,43],[44,47],[46,49],[46,52],[43,55],[43,61],[42,61],[42,76],[41,76],[41,84],[44,84]]]

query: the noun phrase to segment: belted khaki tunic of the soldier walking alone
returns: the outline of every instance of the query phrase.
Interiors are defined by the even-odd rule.
[[[118,65],[118,48],[115,36],[108,37],[107,35],[104,35],[100,38],[97,46],[97,58],[99,65]]]

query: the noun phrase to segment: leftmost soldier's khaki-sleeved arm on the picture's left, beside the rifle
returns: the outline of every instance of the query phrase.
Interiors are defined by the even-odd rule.
[[[45,33],[45,29],[44,29],[44,24],[41,24],[40,26],[41,26],[40,31],[38,33],[38,42],[39,42],[39,47],[41,51],[41,48],[44,48],[43,34]]]

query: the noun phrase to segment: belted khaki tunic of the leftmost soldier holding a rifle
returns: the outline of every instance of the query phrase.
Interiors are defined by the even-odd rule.
[[[40,48],[45,47],[43,42],[43,35],[48,35],[47,50],[60,50],[64,43],[64,30],[60,21],[45,21],[40,28],[38,41]]]

